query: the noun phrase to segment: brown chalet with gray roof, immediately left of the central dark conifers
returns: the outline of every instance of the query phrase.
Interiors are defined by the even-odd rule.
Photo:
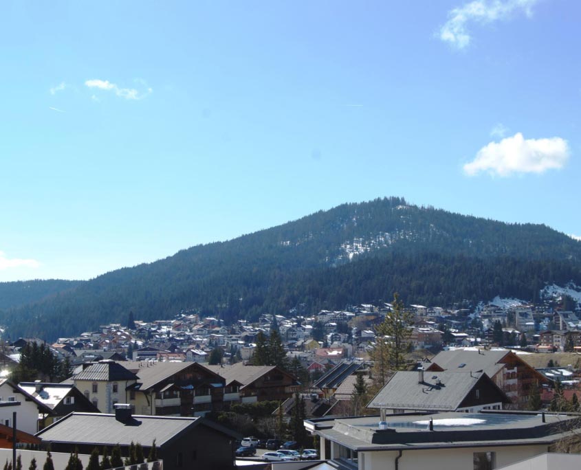
[[[242,403],[284,401],[300,385],[292,374],[277,366],[245,366],[238,362],[231,366],[207,367],[226,379],[226,387],[239,388]]]

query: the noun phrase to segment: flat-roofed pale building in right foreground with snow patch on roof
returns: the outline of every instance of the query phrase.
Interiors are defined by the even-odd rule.
[[[581,423],[576,416],[507,412],[318,418],[320,458],[358,470],[495,469],[547,452]]]

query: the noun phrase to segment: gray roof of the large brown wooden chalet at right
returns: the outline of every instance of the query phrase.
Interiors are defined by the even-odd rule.
[[[476,372],[483,371],[488,377],[494,377],[499,370],[505,366],[499,363],[509,350],[465,350],[456,349],[441,351],[431,359],[432,364],[438,366],[447,372]],[[424,364],[428,368],[430,364]]]

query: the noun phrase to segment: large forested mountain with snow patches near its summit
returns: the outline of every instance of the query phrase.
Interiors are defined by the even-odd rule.
[[[494,295],[534,300],[581,284],[581,243],[545,225],[507,224],[401,198],[340,205],[234,240],[124,268],[8,309],[8,335],[78,334],[105,322],[196,309],[226,322],[391,300],[447,305]],[[34,299],[32,299],[34,300]]]

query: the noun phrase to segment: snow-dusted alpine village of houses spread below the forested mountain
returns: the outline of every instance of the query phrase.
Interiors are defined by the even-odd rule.
[[[405,364],[378,387],[376,352],[393,342],[378,331],[395,314],[411,319]],[[469,455],[475,469],[500,468],[561,449],[575,434],[580,335],[579,317],[558,306],[490,304],[470,312],[362,304],[228,326],[192,312],[154,322],[131,312],[126,324],[54,344],[3,344],[0,452],[7,468],[14,448],[21,466],[32,458],[43,465],[50,449],[61,468],[226,469],[243,462],[259,469],[297,465],[303,456],[300,468],[316,460],[367,470],[401,451],[386,431],[405,429],[399,437],[409,446],[413,429],[445,429],[452,447],[463,449],[457,457],[448,451],[446,465]],[[43,357],[53,365],[34,369]],[[518,436],[498,440],[514,427],[523,428]],[[523,439],[528,429],[536,431]],[[474,435],[465,445],[461,434]],[[418,442],[417,456],[432,458],[426,435]],[[567,445],[571,451],[577,443]],[[466,454],[468,447],[494,450]]]

